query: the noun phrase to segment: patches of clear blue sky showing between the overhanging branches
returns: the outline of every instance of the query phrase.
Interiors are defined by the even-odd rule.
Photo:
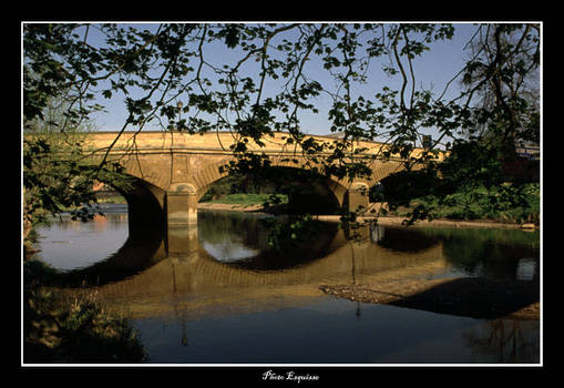
[[[135,24],[139,28],[155,29],[156,24]],[[464,53],[463,47],[472,37],[476,27],[472,23],[454,23],[454,37],[452,40],[443,40],[431,44],[431,50],[418,58],[414,64],[416,72],[416,86],[430,89],[432,88],[433,93],[440,94],[445,84],[463,68],[468,53]],[[287,37],[289,38],[289,37]],[[91,44],[95,44],[95,41],[101,39],[96,37],[95,29],[91,29],[89,40]],[[234,63],[237,59],[240,59],[240,53],[237,55],[236,50],[221,50],[217,51],[214,48],[209,48],[205,51],[208,55],[209,61],[215,63]],[[382,61],[387,61],[386,58]],[[253,64],[250,64],[253,65]],[[308,63],[309,67],[316,65],[316,63]],[[368,83],[362,85],[356,85],[352,92],[363,95],[367,99],[373,100],[376,93],[381,91],[383,85],[388,85],[391,89],[399,89],[400,80],[398,76],[394,79],[389,78],[381,70],[381,63],[372,61],[370,71],[368,73]],[[331,82],[329,74],[325,71],[309,72],[311,79],[318,81]],[[322,83],[322,82],[321,82]],[[268,94],[269,88],[275,86],[274,84],[265,85],[265,95]],[[450,92],[454,95],[458,92],[458,84],[453,82],[450,86]],[[126,119],[126,109],[124,104],[124,96],[115,94],[115,96],[107,101],[102,100],[101,102],[106,105],[107,112],[96,113],[92,116],[95,122],[95,127],[99,131],[116,131],[120,130]],[[314,100],[316,105],[319,106],[319,113],[301,113],[301,127],[306,133],[310,134],[328,134],[330,133],[330,122],[327,118],[327,110],[331,104],[331,100],[327,95],[320,95]],[[132,129],[134,130],[134,129]],[[148,123],[144,130],[162,130],[158,123]],[[433,137],[438,135],[438,131],[428,130],[429,134]]]

